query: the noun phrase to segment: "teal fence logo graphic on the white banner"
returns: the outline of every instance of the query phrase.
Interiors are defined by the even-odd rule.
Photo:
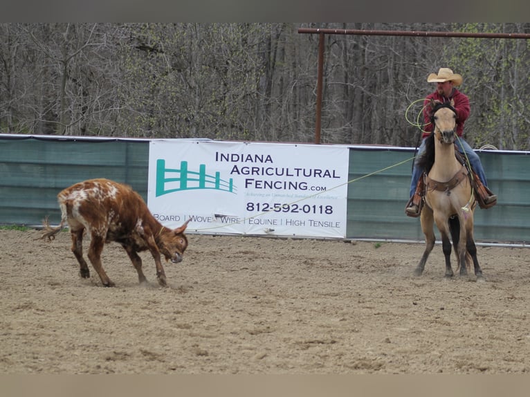
[[[234,193],[237,187],[232,178],[221,179],[221,173],[206,174],[206,165],[199,165],[199,172],[188,169],[188,161],[181,161],[180,169],[165,167],[165,160],[156,160],[156,197],[182,190],[214,189]]]

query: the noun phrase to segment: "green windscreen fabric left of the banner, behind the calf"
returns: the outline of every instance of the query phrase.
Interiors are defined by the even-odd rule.
[[[0,224],[60,222],[57,193],[89,178],[128,183],[147,199],[149,142],[0,138]]]

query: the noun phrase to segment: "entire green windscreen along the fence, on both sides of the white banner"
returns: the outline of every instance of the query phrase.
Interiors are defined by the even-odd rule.
[[[530,152],[478,154],[499,199],[475,210],[475,239],[529,243]],[[412,148],[349,148],[347,239],[423,240],[419,218],[404,212],[412,156]],[[57,193],[89,178],[128,183],[147,201],[148,166],[149,140],[0,135],[0,225],[59,223]]]

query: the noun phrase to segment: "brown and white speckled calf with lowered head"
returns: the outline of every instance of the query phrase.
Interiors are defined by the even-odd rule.
[[[108,179],[90,179],[66,187],[57,194],[61,208],[61,223],[51,228],[44,221],[42,239],[51,241],[55,234],[70,226],[72,252],[80,264],[81,277],[90,277],[89,267],[83,258],[83,232],[91,236],[88,256],[104,286],[114,283],[109,279],[101,265],[101,252],[105,242],[116,241],[121,244],[138,272],[138,281],[147,281],[142,272],[142,259],[138,252],[149,250],[156,264],[158,284],[166,286],[161,254],[166,261],[174,264],[182,261],[182,255],[188,247],[184,230],[186,221],[174,230],[167,229],[149,212],[142,197],[128,185],[122,185]]]

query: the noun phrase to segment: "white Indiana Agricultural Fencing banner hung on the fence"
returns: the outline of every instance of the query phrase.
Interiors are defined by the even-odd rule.
[[[189,232],[346,235],[348,148],[152,140],[147,204]]]

